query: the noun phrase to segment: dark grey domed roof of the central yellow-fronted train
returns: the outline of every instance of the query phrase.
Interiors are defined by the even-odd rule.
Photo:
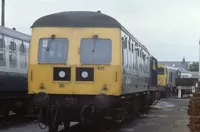
[[[120,28],[133,38],[147,52],[147,48],[142,45],[122,24],[116,19],[101,12],[93,11],[66,11],[43,16],[37,19],[31,26],[35,27],[105,27]],[[149,53],[149,52],[148,52]]]

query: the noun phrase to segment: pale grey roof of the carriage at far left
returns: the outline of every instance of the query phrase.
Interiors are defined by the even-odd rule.
[[[0,26],[0,34],[11,38],[20,39],[26,42],[29,42],[30,40],[29,35],[3,26]]]

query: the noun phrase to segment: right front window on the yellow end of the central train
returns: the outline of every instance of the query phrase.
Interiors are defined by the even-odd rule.
[[[84,38],[81,40],[80,58],[82,64],[108,64],[112,59],[110,39]]]

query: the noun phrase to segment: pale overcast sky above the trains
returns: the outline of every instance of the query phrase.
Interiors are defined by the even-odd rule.
[[[198,60],[200,0],[5,0],[7,27],[30,26],[54,12],[97,11],[117,19],[158,60]]]

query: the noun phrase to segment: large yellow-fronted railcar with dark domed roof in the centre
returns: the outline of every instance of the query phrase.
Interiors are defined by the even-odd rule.
[[[155,99],[156,71],[147,48],[100,12],[60,12],[32,25],[29,94],[49,131],[136,115]]]

